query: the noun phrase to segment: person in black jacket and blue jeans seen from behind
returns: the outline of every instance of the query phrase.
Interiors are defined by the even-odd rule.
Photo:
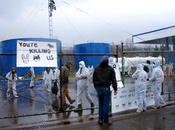
[[[99,120],[100,125],[107,124],[109,122],[109,104],[110,104],[110,86],[114,89],[114,94],[117,94],[117,82],[115,71],[112,67],[108,65],[108,58],[104,57],[94,70],[93,73],[93,83],[97,91],[98,101],[99,101]]]

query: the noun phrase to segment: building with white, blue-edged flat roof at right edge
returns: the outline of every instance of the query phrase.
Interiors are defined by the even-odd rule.
[[[164,52],[166,63],[173,64],[175,68],[175,55],[171,53],[175,50],[175,26],[135,34],[132,36],[132,40],[133,43],[137,44],[155,44],[162,46],[166,51],[166,53]]]

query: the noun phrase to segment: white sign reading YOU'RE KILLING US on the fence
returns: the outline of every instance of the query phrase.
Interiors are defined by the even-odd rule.
[[[57,67],[56,42],[17,41],[17,67]]]

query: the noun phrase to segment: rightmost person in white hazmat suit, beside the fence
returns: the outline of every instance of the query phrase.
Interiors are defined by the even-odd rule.
[[[161,103],[164,105],[166,104],[161,96],[161,88],[162,83],[164,81],[164,73],[160,66],[160,61],[156,60],[154,63],[154,69],[149,80],[152,81],[155,108],[160,108]]]

